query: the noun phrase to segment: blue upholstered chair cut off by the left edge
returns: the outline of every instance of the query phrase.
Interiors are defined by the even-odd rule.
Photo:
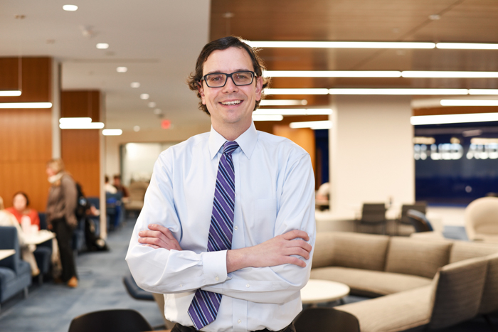
[[[16,250],[14,255],[0,260],[0,304],[22,290],[28,297],[31,267],[21,259],[16,227],[0,227],[0,249]]]

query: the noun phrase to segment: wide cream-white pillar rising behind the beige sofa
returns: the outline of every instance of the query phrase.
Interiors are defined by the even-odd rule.
[[[330,132],[331,208],[351,217],[363,203],[415,200],[411,97],[335,96]]]

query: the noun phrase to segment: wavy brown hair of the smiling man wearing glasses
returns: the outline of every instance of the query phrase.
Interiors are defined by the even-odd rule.
[[[196,71],[189,75],[189,80],[187,83],[189,84],[189,88],[192,91],[197,92],[197,97],[201,98],[201,93],[198,91],[198,87],[201,84],[202,73],[204,68],[204,63],[208,60],[208,56],[213,53],[215,50],[226,50],[227,48],[243,48],[250,56],[250,60],[253,61],[254,72],[257,77],[263,77],[263,71],[265,70],[265,65],[263,64],[263,60],[258,56],[258,48],[252,48],[240,37],[229,36],[225,38],[217,39],[216,41],[211,41],[211,43],[207,43],[204,48],[201,50],[201,54],[199,54],[196,62]],[[270,84],[270,78],[263,77],[263,90],[265,87],[268,87]],[[263,95],[261,95],[261,99],[263,99]],[[260,100],[256,100],[256,105],[253,110],[258,109],[260,105]],[[199,109],[201,111],[209,114],[208,107],[203,105],[202,100],[199,102]]]

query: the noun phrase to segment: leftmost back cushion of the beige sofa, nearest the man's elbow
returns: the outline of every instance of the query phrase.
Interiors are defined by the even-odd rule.
[[[389,237],[353,232],[319,232],[312,268],[351,267],[383,271]]]

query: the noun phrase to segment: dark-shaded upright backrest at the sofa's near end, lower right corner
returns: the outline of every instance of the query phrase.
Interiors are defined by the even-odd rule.
[[[442,267],[434,278],[430,328],[445,328],[477,315],[488,259],[465,259]]]

